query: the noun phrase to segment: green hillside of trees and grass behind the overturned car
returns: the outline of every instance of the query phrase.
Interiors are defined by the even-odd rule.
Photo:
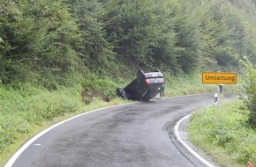
[[[162,70],[169,96],[212,91],[202,71],[240,75],[256,62],[255,4],[0,1],[0,165],[59,117],[123,103],[117,86],[139,69]]]

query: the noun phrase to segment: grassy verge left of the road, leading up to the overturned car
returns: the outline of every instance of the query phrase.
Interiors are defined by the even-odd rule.
[[[124,103],[118,98],[104,102],[94,97],[90,98],[90,105],[85,105],[80,96],[81,90],[79,87],[59,91],[24,85],[0,87],[0,166],[4,166],[28,138],[56,122],[79,113]]]

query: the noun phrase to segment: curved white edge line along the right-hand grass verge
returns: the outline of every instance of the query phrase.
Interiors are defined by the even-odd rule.
[[[177,121],[177,124],[174,127],[174,133],[177,137],[178,142],[181,142],[182,145],[185,147],[185,149],[187,149],[188,151],[190,151],[192,153],[193,156],[196,156],[202,163],[205,163],[208,167],[215,167],[213,164],[209,163],[206,159],[204,159],[202,156],[200,156],[199,154],[197,154],[191,147],[189,147],[181,138],[180,135],[178,133],[178,128],[181,124],[181,122],[183,122],[184,120],[188,119],[191,116],[191,114],[184,116],[181,120]]]

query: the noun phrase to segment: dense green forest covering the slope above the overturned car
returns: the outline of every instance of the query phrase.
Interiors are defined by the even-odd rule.
[[[70,84],[138,69],[240,71],[256,62],[255,0],[2,0],[0,82]]]

